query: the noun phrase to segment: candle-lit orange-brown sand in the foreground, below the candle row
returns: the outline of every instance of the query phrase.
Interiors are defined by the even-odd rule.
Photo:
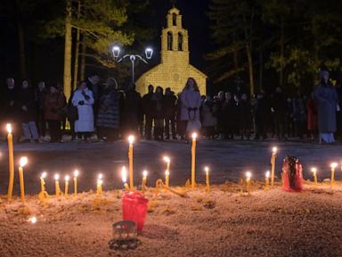
[[[257,186],[256,186],[257,187]],[[338,187],[336,187],[338,188]],[[178,189],[178,190],[184,190]],[[121,191],[0,203],[0,256],[341,256],[342,191],[307,186],[239,194],[232,184],[188,192],[188,198],[147,194],[142,242],[109,248],[111,225],[121,220]],[[29,215],[37,224],[28,223]]]

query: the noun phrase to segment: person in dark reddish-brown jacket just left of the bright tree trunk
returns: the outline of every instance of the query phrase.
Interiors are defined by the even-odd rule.
[[[65,97],[57,87],[51,86],[49,93],[45,95],[44,118],[49,126],[51,143],[61,141],[61,109],[65,106]]]

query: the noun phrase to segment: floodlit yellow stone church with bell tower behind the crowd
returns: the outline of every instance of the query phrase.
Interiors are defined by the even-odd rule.
[[[147,93],[147,87],[171,87],[175,94],[181,92],[188,78],[199,85],[200,95],[206,95],[207,75],[196,69],[189,61],[188,30],[182,27],[182,15],[175,7],[167,13],[167,28],[161,32],[161,62],[146,71],[135,82],[136,90]]]

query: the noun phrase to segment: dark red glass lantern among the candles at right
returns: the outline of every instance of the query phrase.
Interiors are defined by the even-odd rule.
[[[282,162],[282,187],[288,192],[303,190],[302,164],[296,157],[286,157]]]

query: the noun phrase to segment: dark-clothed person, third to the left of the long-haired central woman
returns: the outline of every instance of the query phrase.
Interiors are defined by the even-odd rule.
[[[154,102],[152,101],[153,86],[148,87],[148,93],[142,96],[142,112],[145,118],[145,137],[147,140],[151,140],[152,137],[152,124],[153,124],[153,110]]]

